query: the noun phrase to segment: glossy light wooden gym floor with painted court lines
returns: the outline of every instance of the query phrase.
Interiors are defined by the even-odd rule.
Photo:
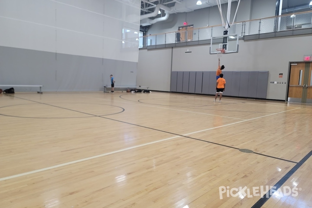
[[[1,208],[312,207],[312,105],[157,92],[1,94],[0,126]],[[251,195],[289,186],[298,196],[220,199],[221,186]]]

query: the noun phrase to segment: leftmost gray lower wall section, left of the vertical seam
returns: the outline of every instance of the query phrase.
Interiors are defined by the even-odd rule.
[[[55,72],[55,53],[0,46],[2,85],[43,85],[43,91],[55,90]],[[17,92],[38,91],[34,87],[15,89]]]

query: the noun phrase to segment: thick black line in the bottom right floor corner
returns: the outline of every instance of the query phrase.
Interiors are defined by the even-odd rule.
[[[274,192],[277,191],[302,166],[302,164],[305,163],[305,161],[307,161],[309,157],[311,157],[311,155],[312,155],[312,150],[304,158],[302,158],[293,168],[291,168],[291,170],[288,173],[286,173],[286,175],[282,177],[274,185],[274,189],[273,188],[270,189],[269,191],[270,194],[268,194],[269,196],[266,196],[265,194],[251,208],[260,208],[261,206],[263,206],[266,203],[266,201],[268,201],[271,198]]]

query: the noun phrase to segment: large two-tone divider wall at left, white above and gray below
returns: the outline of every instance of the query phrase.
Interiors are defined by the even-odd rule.
[[[0,58],[0,82],[99,90],[114,74],[136,85],[139,21],[140,0],[0,0],[0,53],[16,55]]]

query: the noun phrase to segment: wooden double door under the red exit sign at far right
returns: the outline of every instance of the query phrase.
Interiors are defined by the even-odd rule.
[[[288,101],[312,103],[312,62],[290,65]]]

